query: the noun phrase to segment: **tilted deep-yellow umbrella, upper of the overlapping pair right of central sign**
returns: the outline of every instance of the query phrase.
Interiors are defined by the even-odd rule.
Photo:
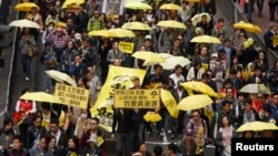
[[[206,83],[198,81],[189,81],[181,83],[181,85],[186,89],[190,89],[196,92],[200,92],[202,94],[207,94],[209,96],[218,96],[218,94]]]

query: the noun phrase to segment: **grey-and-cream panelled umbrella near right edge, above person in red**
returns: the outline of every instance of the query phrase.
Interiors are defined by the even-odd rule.
[[[239,90],[241,93],[259,93],[259,94],[270,94],[270,90],[265,84],[251,83],[247,84]]]

